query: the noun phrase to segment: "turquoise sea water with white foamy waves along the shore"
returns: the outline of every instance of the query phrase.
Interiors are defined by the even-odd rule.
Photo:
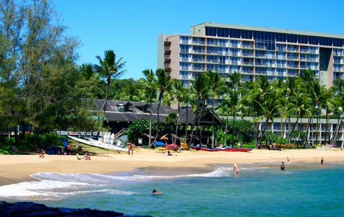
[[[113,175],[39,173],[0,187],[0,200],[152,216],[344,216],[343,164],[143,168]],[[151,195],[153,189],[164,193]]]

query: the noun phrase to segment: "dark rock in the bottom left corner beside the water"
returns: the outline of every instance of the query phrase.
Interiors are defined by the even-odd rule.
[[[8,203],[0,201],[0,216],[150,216],[150,215],[124,215],[121,212],[102,211],[97,209],[73,209],[47,207],[34,202]]]

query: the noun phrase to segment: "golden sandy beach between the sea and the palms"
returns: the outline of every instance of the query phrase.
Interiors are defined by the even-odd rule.
[[[254,149],[250,152],[196,151],[182,150],[167,156],[167,153],[153,149],[136,148],[133,155],[122,153],[104,153],[91,156],[91,160],[77,160],[73,155],[45,155],[39,159],[37,155],[0,155],[0,186],[35,181],[31,174],[50,173],[96,173],[110,174],[132,171],[141,167],[178,167],[202,168],[214,164],[247,164],[254,162],[313,161],[319,164],[320,158],[326,162],[343,162],[342,150],[289,149],[266,150]]]

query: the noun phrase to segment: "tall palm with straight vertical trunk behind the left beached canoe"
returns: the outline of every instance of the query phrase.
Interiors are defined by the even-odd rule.
[[[209,81],[209,90],[210,90],[210,95],[211,95],[211,107],[212,107],[212,139],[211,139],[211,147],[214,147],[214,131],[215,131],[215,127],[214,127],[214,98],[218,98],[219,97],[219,93],[220,90],[222,89],[223,86],[223,82],[221,80],[221,78],[218,76],[217,72],[213,72],[210,69],[206,71],[206,76],[207,79]]]

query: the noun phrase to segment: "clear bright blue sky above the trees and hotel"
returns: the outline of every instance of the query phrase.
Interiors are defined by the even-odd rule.
[[[204,22],[344,35],[342,0],[55,0],[55,8],[70,27],[67,34],[82,43],[79,64],[98,64],[95,56],[112,49],[126,62],[122,78],[156,70],[158,34],[189,34],[192,25]]]

